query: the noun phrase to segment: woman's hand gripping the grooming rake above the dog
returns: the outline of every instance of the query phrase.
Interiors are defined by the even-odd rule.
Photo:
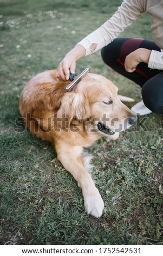
[[[76,60],[84,57],[86,50],[81,45],[76,45],[73,50],[68,52],[57,68],[57,78],[64,81],[69,80],[70,73],[75,73]],[[70,73],[69,73],[70,72]]]

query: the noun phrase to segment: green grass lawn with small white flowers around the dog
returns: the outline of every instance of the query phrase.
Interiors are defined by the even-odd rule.
[[[105,22],[120,0],[0,0],[2,241],[22,245],[163,244],[162,115],[150,114],[116,142],[87,149],[105,202],[103,216],[84,211],[81,190],[55,149],[30,132],[15,132],[19,95],[30,77],[58,63],[79,40]],[[122,33],[151,39],[146,14]],[[3,22],[3,23],[2,23]],[[29,55],[30,54],[30,55]],[[140,88],[109,69],[100,52],[77,62],[140,100]],[[128,107],[131,107],[128,104]]]

